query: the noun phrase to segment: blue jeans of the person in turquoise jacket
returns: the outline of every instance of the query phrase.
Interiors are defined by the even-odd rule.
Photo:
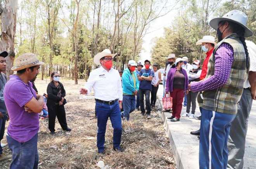
[[[130,119],[130,113],[135,110],[135,102],[134,95],[123,95],[123,109],[127,121]]]

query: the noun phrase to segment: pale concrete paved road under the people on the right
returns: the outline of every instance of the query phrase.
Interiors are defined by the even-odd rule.
[[[159,86],[157,95],[161,100],[163,96],[163,85]],[[182,108],[182,114],[185,113],[185,107]],[[200,111],[197,106],[195,115],[199,116]],[[171,116],[170,113],[164,113],[165,117]],[[200,121],[189,118],[180,118],[180,122],[171,123],[165,120],[166,130],[170,137],[177,167],[184,169],[198,169],[199,140],[190,135],[190,131],[199,129]],[[256,169],[256,101],[253,101],[248,132],[246,137],[246,152],[244,155],[244,169]]]

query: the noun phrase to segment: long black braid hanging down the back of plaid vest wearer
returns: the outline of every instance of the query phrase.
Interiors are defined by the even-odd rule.
[[[244,45],[244,51],[246,53],[246,68],[249,68],[249,53],[248,53],[246,42],[245,42],[245,38],[244,38],[245,30],[244,30],[244,28],[242,26],[240,26],[239,24],[236,24],[234,22],[228,22],[228,24],[230,25],[230,27],[233,30],[233,32],[237,34],[237,36],[239,37],[240,41]]]

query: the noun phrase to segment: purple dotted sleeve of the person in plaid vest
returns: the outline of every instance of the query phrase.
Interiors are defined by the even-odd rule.
[[[215,53],[214,75],[201,82],[191,83],[193,92],[214,90],[224,85],[230,75],[234,61],[234,50],[228,43],[222,43]]]

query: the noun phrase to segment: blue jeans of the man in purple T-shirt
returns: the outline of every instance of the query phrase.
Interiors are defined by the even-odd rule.
[[[8,135],[6,138],[9,148],[12,150],[10,169],[37,169],[39,159],[37,151],[38,134],[24,143],[17,142]]]

